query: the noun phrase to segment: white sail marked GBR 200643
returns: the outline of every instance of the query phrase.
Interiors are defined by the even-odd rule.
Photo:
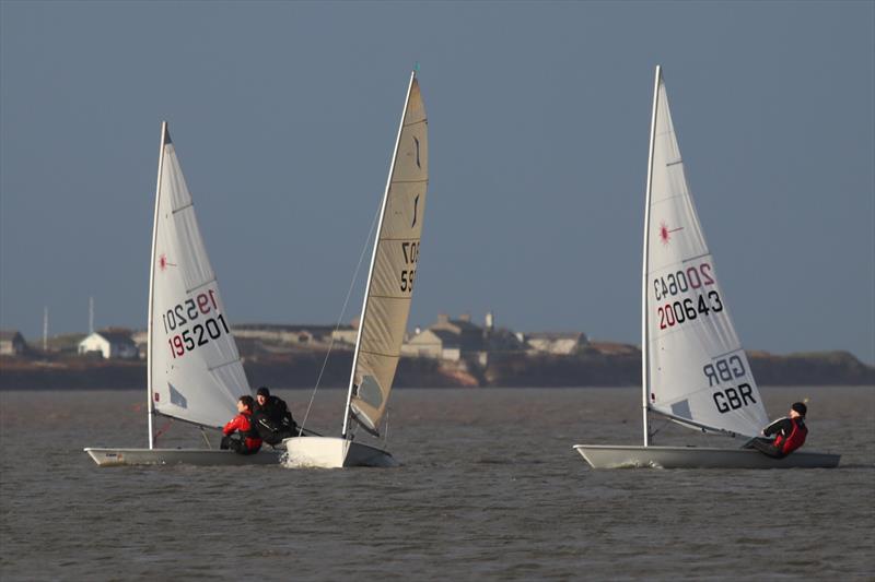
[[[684,174],[656,71],[644,254],[648,407],[692,426],[755,436],[768,423]]]

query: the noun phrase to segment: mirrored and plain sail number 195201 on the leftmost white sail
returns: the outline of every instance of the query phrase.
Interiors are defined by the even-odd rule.
[[[180,330],[167,340],[174,358],[184,356],[210,340],[218,340],[222,333],[229,333],[228,323],[221,313],[217,313],[215,292],[209,289],[198,294],[194,299],[177,304],[161,316],[164,332]],[[207,317],[212,314],[212,317]],[[191,324],[191,328],[187,326]],[[183,329],[186,328],[186,329]]]

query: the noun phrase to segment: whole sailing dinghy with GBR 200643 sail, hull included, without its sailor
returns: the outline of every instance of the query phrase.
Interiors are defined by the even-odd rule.
[[[594,468],[835,467],[840,455],[652,447],[648,413],[705,432],[755,437],[768,424],[687,185],[660,67],[653,95],[642,277],[643,447],[576,444]]]

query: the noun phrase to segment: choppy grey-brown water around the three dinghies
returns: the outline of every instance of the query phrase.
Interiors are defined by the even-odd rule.
[[[0,578],[873,579],[875,390],[763,396],[810,396],[806,448],[841,467],[592,471],[571,446],[640,442],[638,390],[530,389],[396,391],[399,468],[98,468],[82,447],[144,446],[143,394],[3,392]],[[342,399],[308,426],[339,432]]]

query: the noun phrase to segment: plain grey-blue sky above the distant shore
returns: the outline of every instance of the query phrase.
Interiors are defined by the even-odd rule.
[[[0,328],[144,328],[170,122],[235,323],[341,313],[410,70],[409,326],[640,344],[653,73],[748,349],[875,363],[875,2],[0,2]]]

